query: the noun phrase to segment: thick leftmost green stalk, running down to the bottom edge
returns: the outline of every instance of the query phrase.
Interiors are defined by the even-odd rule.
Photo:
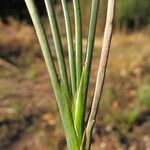
[[[71,115],[71,111],[69,108],[68,101],[66,100],[65,91],[63,92],[63,87],[61,87],[59,79],[57,77],[56,68],[54,65],[54,60],[52,58],[51,50],[48,44],[48,40],[46,34],[44,32],[43,25],[40,20],[40,16],[38,14],[37,8],[33,0],[25,0],[29,13],[31,15],[40,45],[42,49],[42,53],[44,55],[44,59],[48,68],[48,72],[51,78],[52,86],[54,89],[54,93],[56,96],[56,100],[58,103],[58,107],[60,110],[61,119],[63,122],[68,149],[69,150],[79,150],[78,139],[76,136],[73,118]],[[72,140],[73,139],[73,140]]]

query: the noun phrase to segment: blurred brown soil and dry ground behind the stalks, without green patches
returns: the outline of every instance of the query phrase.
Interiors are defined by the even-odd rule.
[[[7,56],[17,70],[3,64],[0,66],[0,150],[66,149],[53,90],[33,28],[13,21],[10,26],[1,27],[4,32],[0,33],[0,54],[5,54],[3,59]],[[27,33],[30,38],[22,36]],[[93,133],[93,150],[150,149],[150,112],[147,107],[140,107],[135,96],[139,84],[149,83],[150,61],[147,56],[150,55],[150,43],[147,34],[142,31],[114,36],[106,88],[111,88],[115,97],[98,117]],[[101,47],[101,41],[97,38],[95,43],[89,100],[93,95],[100,55],[97,49]],[[4,47],[7,53],[4,53]],[[19,55],[14,55],[14,52],[9,55],[15,48],[18,48]],[[129,124],[126,120],[105,121],[115,114],[122,117],[128,109],[135,107],[139,108],[140,114],[127,132],[121,129],[122,122],[123,125]]]

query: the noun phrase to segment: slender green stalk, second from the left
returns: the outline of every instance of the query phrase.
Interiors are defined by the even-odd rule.
[[[63,47],[62,47],[62,42],[61,42],[61,38],[60,38],[60,34],[59,34],[59,29],[58,29],[58,24],[57,24],[57,20],[56,20],[54,7],[53,7],[51,0],[44,0],[44,2],[46,5],[46,10],[48,13],[48,18],[49,18],[49,22],[50,22],[50,26],[51,26],[51,30],[52,30],[54,45],[55,45],[56,54],[57,54],[57,58],[58,58],[60,75],[62,78],[62,82],[65,86],[65,89],[68,91],[68,95],[70,95],[67,71],[66,71],[66,65],[65,65],[65,58],[64,58],[64,54],[63,54]]]

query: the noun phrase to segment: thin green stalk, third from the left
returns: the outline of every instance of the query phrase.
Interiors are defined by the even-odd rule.
[[[71,76],[71,88],[72,88],[72,95],[74,97],[76,93],[76,68],[75,68],[72,30],[71,30],[71,23],[70,23],[67,2],[66,0],[61,0],[61,2],[62,2],[64,17],[65,17],[65,27],[66,27],[67,41],[68,41],[69,65],[70,65],[70,76]]]

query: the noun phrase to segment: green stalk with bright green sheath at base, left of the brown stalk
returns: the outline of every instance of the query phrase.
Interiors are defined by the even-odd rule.
[[[91,70],[92,54],[93,54],[93,47],[94,47],[94,41],[95,41],[95,32],[96,32],[96,25],[97,25],[99,2],[100,0],[92,1],[89,34],[88,34],[88,41],[87,41],[86,61],[84,65],[84,70],[82,72],[82,76],[84,76],[84,78],[81,77],[81,79],[84,81],[82,81],[83,83],[80,82],[81,84],[84,84],[84,86],[83,88],[79,89],[79,93],[82,94],[82,96],[77,97],[77,102],[76,102],[76,107],[75,107],[75,127],[77,128],[79,137],[83,136],[83,125],[84,125],[84,116],[85,116],[85,107],[86,107],[85,101],[87,97],[87,90],[88,90],[88,84],[89,84],[89,78],[90,78],[90,70]],[[82,140],[82,138],[80,139]]]

